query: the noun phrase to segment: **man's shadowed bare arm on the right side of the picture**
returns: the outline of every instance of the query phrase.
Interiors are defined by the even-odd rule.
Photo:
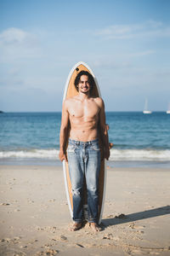
[[[105,104],[102,99],[100,99],[100,112],[99,112],[99,131],[101,134],[101,140],[104,145],[104,157],[106,160],[109,160],[110,157],[110,148],[109,148],[109,138],[107,126],[105,124]]]

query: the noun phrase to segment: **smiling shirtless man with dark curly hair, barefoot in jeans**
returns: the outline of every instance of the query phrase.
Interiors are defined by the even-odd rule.
[[[94,78],[87,71],[81,71],[75,79],[77,96],[63,103],[60,127],[59,159],[68,161],[72,185],[73,220],[72,231],[82,228],[82,195],[86,178],[88,191],[88,222],[94,231],[98,225],[98,180],[100,160],[110,157],[107,129],[105,125],[105,106],[99,97],[90,95]],[[65,143],[70,129],[67,154]],[[102,140],[102,154],[99,150],[99,136]],[[67,159],[68,156],[68,159]]]

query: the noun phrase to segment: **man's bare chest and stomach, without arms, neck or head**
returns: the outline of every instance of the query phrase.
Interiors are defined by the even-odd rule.
[[[82,101],[78,96],[74,96],[67,100],[71,139],[88,142],[98,137],[100,105],[99,97],[89,97]]]

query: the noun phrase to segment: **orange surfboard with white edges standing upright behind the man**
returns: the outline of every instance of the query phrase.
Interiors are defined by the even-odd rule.
[[[88,71],[92,74],[94,77],[95,86],[93,90],[91,91],[91,96],[101,96],[100,90],[99,90],[99,84],[97,82],[96,77],[94,76],[93,71],[88,67],[88,65],[82,61],[78,62],[74,67],[72,67],[71,72],[69,73],[69,76],[65,83],[65,91],[63,96],[63,102],[65,99],[76,96],[78,94],[74,81],[77,77],[77,74],[81,72],[82,70]],[[101,140],[99,140],[100,147]],[[68,143],[68,137],[67,137],[67,143]],[[67,145],[66,143],[66,145]],[[69,165],[68,163],[63,160],[63,172],[64,172],[64,179],[65,179],[65,191],[66,191],[66,197],[68,201],[69,210],[71,213],[71,218],[73,216],[73,203],[72,203],[72,194],[71,194],[71,178],[69,175]],[[100,172],[99,172],[99,221],[98,223],[101,223],[101,218],[104,210],[104,203],[105,203],[105,182],[106,182],[106,168],[105,168],[105,159],[101,160],[100,164]],[[86,189],[86,183],[84,183],[84,195],[83,195],[83,216],[87,220],[88,218],[88,203],[87,203],[87,189]]]

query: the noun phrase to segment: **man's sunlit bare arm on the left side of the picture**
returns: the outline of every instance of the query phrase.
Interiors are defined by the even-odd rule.
[[[67,161],[66,151],[65,151],[65,143],[68,135],[69,129],[69,113],[67,110],[67,102],[63,103],[62,108],[62,118],[61,118],[61,127],[60,127],[60,135],[59,135],[59,160]]]

